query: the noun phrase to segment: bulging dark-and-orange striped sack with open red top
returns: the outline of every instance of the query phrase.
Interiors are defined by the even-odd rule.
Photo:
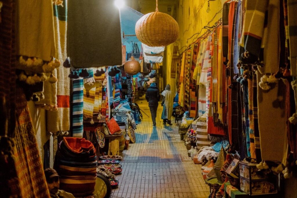
[[[84,138],[64,137],[57,154],[60,189],[75,197],[92,195],[96,183],[97,156],[94,145]]]

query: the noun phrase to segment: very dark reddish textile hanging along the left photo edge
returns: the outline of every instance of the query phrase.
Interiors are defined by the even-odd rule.
[[[15,128],[15,1],[2,1],[0,23],[0,135]],[[4,112],[5,111],[5,112]],[[6,128],[8,121],[8,128]]]

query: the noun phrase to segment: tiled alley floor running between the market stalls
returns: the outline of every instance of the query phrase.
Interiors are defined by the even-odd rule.
[[[137,103],[151,116],[145,100]],[[173,123],[163,127],[161,105],[157,127],[153,128],[151,117],[142,114],[143,120],[135,130],[136,143],[124,150],[123,171],[116,176],[119,187],[113,190],[113,197],[208,197],[209,187],[202,179],[201,165],[188,157],[178,126]]]

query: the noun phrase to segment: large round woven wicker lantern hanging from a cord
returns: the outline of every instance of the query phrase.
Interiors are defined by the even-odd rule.
[[[179,32],[178,23],[170,15],[158,12],[158,0],[156,2],[156,12],[144,15],[135,25],[138,40],[151,47],[174,43]]]

